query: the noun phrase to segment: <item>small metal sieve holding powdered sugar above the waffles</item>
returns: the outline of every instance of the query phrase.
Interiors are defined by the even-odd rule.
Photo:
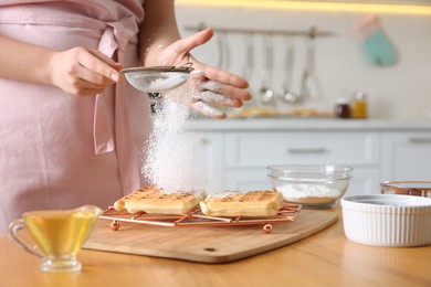
[[[160,93],[177,88],[189,79],[192,63],[180,66],[151,66],[123,68],[127,82],[145,93]]]

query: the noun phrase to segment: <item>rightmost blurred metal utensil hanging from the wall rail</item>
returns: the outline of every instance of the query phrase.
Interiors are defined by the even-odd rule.
[[[301,82],[301,96],[304,98],[317,98],[319,88],[314,70],[314,39],[316,36],[316,28],[312,28],[306,44],[305,68]]]

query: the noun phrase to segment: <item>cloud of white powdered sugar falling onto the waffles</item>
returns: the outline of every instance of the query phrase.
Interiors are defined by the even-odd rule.
[[[200,137],[187,128],[189,111],[165,98],[154,116],[154,130],[141,171],[153,185],[165,191],[204,190],[204,159],[198,155]]]

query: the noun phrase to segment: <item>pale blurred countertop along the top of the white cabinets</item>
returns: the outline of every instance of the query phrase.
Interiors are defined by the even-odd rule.
[[[193,119],[188,121],[192,130],[364,130],[364,131],[431,131],[431,119],[338,119],[338,118],[228,118]]]

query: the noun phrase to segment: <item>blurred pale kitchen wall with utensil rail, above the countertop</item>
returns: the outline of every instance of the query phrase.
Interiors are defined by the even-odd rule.
[[[339,97],[362,92],[369,118],[431,117],[431,1],[177,0],[176,9],[183,36],[214,28],[214,38],[193,55],[246,77],[253,106],[333,113]],[[359,38],[359,24],[372,15],[379,25],[365,24]],[[380,39],[368,38],[376,31]],[[370,61],[372,53],[390,59]],[[303,94],[309,56],[312,95],[283,99],[286,86]],[[274,92],[272,99],[260,96],[263,86]]]

